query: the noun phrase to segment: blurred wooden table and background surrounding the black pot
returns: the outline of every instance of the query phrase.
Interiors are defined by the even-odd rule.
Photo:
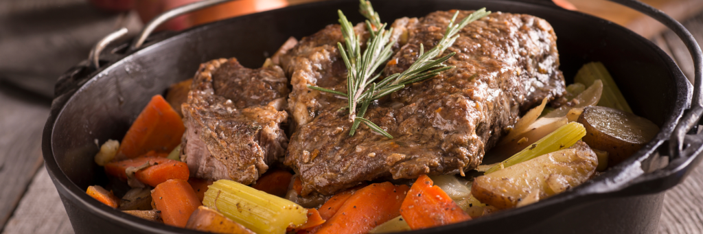
[[[0,0],[0,230],[73,233],[41,159],[41,131],[56,79],[120,27],[129,37],[170,8],[198,0]],[[183,15],[158,30],[179,31],[215,20],[324,0],[240,0]],[[377,0],[382,1],[382,0]],[[650,39],[692,79],[688,51],[664,25],[602,0],[554,0],[572,11],[611,20]],[[703,0],[643,0],[703,41]],[[558,32],[557,32],[558,34]],[[703,167],[666,193],[660,233],[703,233]]]

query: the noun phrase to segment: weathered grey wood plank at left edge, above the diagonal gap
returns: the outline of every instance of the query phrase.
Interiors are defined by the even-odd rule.
[[[0,229],[41,166],[41,131],[49,100],[0,83]]]

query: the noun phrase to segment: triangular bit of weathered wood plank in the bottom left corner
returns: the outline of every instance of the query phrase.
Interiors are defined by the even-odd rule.
[[[72,234],[73,228],[49,173],[41,167],[3,234]]]

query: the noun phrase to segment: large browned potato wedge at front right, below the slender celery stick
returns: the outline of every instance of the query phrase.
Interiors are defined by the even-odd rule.
[[[471,194],[479,201],[505,209],[515,207],[534,190],[538,198],[549,197],[588,180],[598,166],[598,157],[581,141],[565,150],[475,178]]]

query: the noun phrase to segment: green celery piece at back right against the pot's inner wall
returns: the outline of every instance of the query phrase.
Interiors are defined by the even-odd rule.
[[[579,72],[576,73],[574,82],[591,86],[596,79],[600,79],[603,82],[603,93],[598,105],[632,112],[630,105],[627,104],[625,97],[622,96],[617,84],[615,84],[615,81],[602,63],[593,62],[583,65]]]

